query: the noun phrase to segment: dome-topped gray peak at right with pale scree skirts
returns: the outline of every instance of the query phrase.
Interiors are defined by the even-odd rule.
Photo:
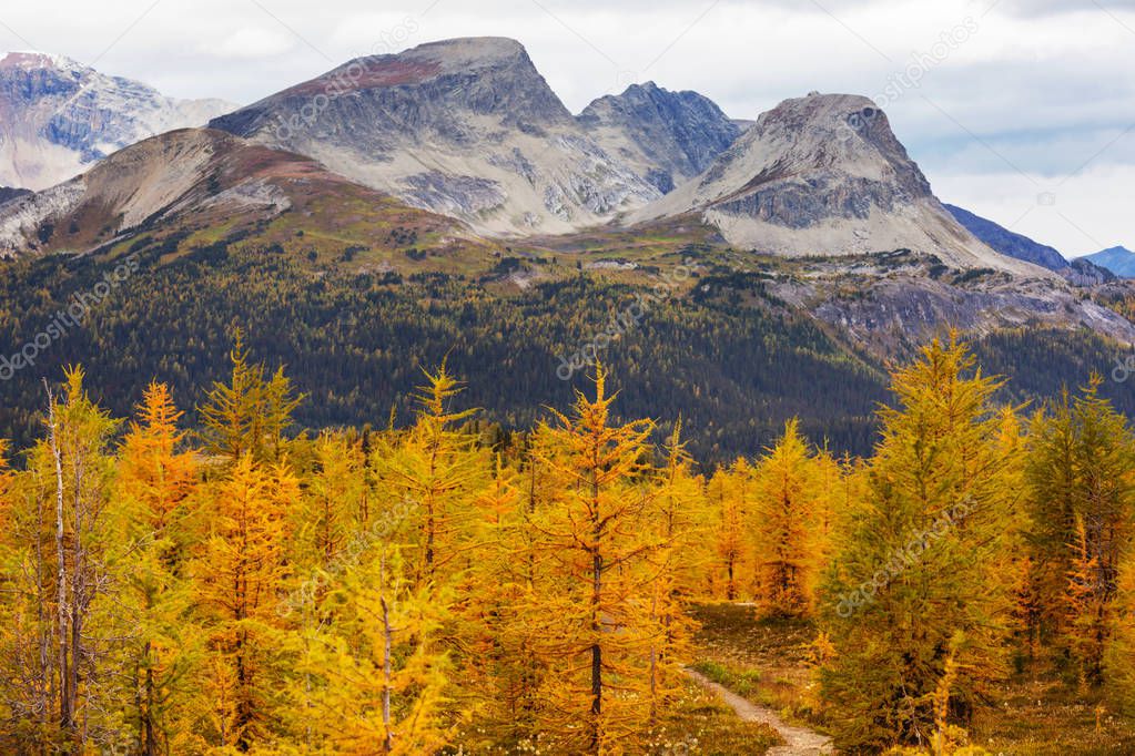
[[[1045,271],[962,228],[866,97],[810,94],[760,116],[709,168],[631,215],[700,213],[733,245],[789,256],[913,249],[953,267]]]

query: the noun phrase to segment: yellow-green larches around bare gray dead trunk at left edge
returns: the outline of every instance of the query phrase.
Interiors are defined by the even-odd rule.
[[[27,753],[70,755],[118,742],[110,713],[119,690],[100,682],[114,679],[120,629],[107,567],[116,544],[109,447],[119,423],[90,399],[81,367],[65,371],[61,396],[44,389],[45,438],[26,470],[6,481],[12,530],[0,585],[14,600],[0,602],[0,706]]]

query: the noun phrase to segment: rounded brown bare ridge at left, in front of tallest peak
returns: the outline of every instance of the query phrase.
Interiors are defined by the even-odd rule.
[[[340,228],[347,218],[376,236],[392,224],[438,240],[472,236],[456,221],[405,207],[310,158],[225,131],[180,129],[0,205],[0,258],[87,254],[143,235],[175,241],[194,233],[212,238],[217,228],[225,229],[220,238],[235,238],[262,230],[285,213],[301,215],[309,232]]]

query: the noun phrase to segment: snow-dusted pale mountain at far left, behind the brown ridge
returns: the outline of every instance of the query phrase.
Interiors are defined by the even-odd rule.
[[[59,56],[0,59],[0,184],[43,189],[142,139],[232,110],[174,100]]]

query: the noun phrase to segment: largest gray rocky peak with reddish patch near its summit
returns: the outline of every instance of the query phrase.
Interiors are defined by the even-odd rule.
[[[354,60],[211,126],[489,235],[572,231],[659,196],[498,37]]]

